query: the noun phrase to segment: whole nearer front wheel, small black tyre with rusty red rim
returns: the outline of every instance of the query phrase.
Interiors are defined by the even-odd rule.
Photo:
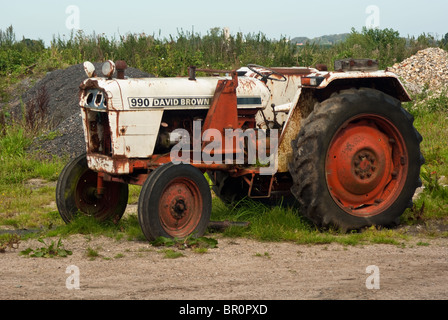
[[[202,172],[187,164],[165,164],[146,179],[138,201],[145,237],[202,236],[210,222],[212,199]]]

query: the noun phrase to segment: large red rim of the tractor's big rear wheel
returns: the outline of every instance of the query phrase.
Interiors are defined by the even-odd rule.
[[[369,217],[395,202],[406,181],[407,150],[386,118],[358,115],[333,137],[326,158],[328,189],[347,213]]]

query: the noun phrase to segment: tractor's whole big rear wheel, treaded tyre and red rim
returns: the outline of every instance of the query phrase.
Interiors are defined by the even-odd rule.
[[[341,91],[316,104],[292,142],[292,193],[303,215],[342,230],[393,226],[421,186],[421,135],[400,101]]]

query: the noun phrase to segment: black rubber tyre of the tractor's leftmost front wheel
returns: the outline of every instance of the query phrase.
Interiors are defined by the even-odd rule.
[[[56,205],[65,223],[70,223],[78,213],[93,215],[99,221],[112,220],[114,223],[123,216],[128,203],[129,187],[118,182],[104,182],[104,195],[98,200],[102,208],[99,211],[94,207],[89,213],[79,208],[77,198],[80,195],[76,194],[77,185],[85,174],[93,172],[88,168],[86,155],[83,154],[72,159],[59,175],[56,185]]]

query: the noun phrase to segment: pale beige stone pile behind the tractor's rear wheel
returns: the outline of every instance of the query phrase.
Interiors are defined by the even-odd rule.
[[[388,71],[397,74],[411,94],[421,93],[425,87],[440,93],[448,87],[448,52],[427,48],[389,67]]]

